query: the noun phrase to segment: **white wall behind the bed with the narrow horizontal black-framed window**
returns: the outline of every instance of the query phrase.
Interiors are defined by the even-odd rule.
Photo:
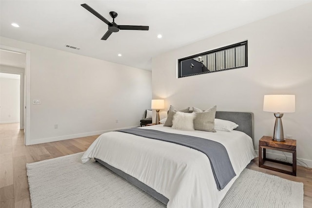
[[[297,139],[297,157],[312,166],[312,3],[203,39],[153,58],[153,98],[170,105],[254,113],[254,147],[273,135],[275,117],[263,96],[294,94],[296,112],[285,113],[284,134]],[[177,59],[248,39],[248,67],[176,78]],[[289,158],[290,160],[291,158]],[[291,160],[290,160],[291,161]]]

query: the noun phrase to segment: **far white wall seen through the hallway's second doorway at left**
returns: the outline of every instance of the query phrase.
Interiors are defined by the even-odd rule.
[[[20,79],[0,77],[0,123],[20,122]]]

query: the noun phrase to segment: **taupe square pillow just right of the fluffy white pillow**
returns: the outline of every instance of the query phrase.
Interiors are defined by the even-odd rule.
[[[196,113],[194,119],[194,129],[205,132],[216,132],[215,131],[215,112],[216,106],[211,107],[206,111],[202,111],[198,108],[193,107],[193,112]]]

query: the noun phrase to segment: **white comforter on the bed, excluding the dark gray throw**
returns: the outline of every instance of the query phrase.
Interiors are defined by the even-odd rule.
[[[219,191],[204,153],[122,132],[103,133],[83,154],[82,163],[96,157],[155,189],[169,199],[168,208],[217,208],[241,171],[256,157],[252,139],[243,132],[180,131],[163,125],[143,128],[217,141],[227,149],[236,173]]]

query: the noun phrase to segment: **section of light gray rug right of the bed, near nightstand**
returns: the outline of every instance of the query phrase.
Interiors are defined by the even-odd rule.
[[[245,169],[219,208],[303,208],[303,183]]]

